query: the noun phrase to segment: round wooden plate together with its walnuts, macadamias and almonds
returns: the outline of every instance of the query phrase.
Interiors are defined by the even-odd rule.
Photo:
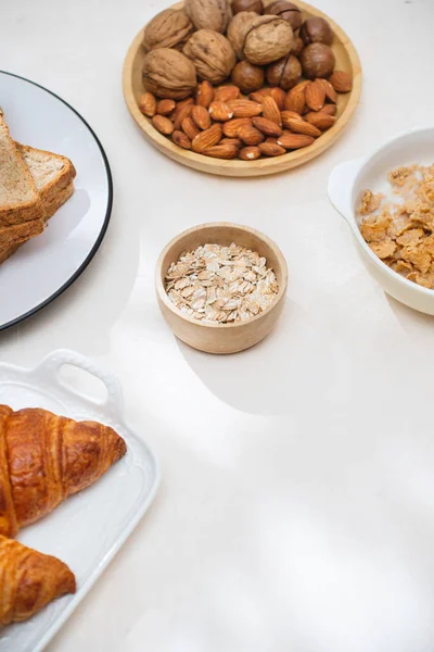
[[[361,70],[341,27],[305,2],[184,0],[137,35],[123,85],[159,151],[250,177],[328,149],[356,110]]]

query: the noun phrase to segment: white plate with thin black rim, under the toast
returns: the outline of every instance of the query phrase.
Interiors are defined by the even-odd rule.
[[[63,154],[77,171],[73,197],[53,215],[43,234],[0,265],[1,330],[56,299],[88,266],[108,225],[113,187],[107,158],[95,134],[56,95],[0,71],[0,106],[15,140]]]

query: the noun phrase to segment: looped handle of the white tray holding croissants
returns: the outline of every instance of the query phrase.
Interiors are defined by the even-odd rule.
[[[94,400],[84,393],[80,393],[79,391],[76,391],[73,387],[66,386],[64,383],[62,383],[59,377],[59,372],[64,364],[69,364],[84,369],[85,372],[88,372],[92,376],[99,378],[107,390],[107,398],[104,401]],[[42,378],[49,374],[50,378],[55,380],[58,385],[61,385],[63,389],[76,394],[81,400],[87,401],[93,406],[103,406],[117,417],[124,414],[124,394],[120,383],[116,376],[114,376],[112,372],[98,366],[89,358],[86,358],[80,353],[76,353],[75,351],[69,351],[67,349],[52,351],[46,358],[43,358],[43,360],[41,360],[36,368],[36,372]]]

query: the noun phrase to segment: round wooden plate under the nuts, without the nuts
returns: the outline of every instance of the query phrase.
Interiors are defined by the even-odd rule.
[[[265,0],[265,3],[269,4],[270,1],[271,0]],[[360,99],[360,61],[354,45],[346,34],[341,29],[341,27],[336,25],[336,23],[329,18],[329,16],[327,16],[324,13],[315,7],[307,4],[306,2],[296,0],[296,4],[303,11],[304,17],[308,18],[311,16],[322,16],[329,21],[334,32],[332,50],[336,58],[335,70],[345,71],[353,77],[353,90],[348,93],[339,96],[339,117],[333,127],[317,138],[317,140],[309,147],[295,150],[288,154],[283,154],[282,156],[258,159],[257,161],[220,161],[218,159],[212,159],[210,156],[196,154],[195,152],[181,149],[169,138],[162,136],[162,134],[159,134],[153,127],[151,121],[145,117],[139,109],[138,102],[140,96],[144,92],[142,67],[145,54],[142,48],[143,29],[141,29],[132,41],[125,59],[123,86],[125,101],[129,112],[142,129],[148,140],[150,140],[161,152],[167,156],[170,156],[170,159],[174,159],[174,161],[178,161],[178,163],[181,163],[182,165],[193,167],[200,172],[232,177],[254,177],[283,172],[284,170],[296,167],[303,163],[306,163],[307,161],[310,161],[311,159],[315,159],[329,147],[331,147],[347,126],[348,121],[355,112]],[[178,4],[174,5],[174,9],[179,9],[181,7],[182,2],[179,2]]]

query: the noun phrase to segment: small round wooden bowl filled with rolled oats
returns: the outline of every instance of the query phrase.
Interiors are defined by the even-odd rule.
[[[190,228],[165,247],[155,287],[176,337],[206,353],[237,353],[275,327],[285,301],[288,268],[267,236],[216,222]]]

